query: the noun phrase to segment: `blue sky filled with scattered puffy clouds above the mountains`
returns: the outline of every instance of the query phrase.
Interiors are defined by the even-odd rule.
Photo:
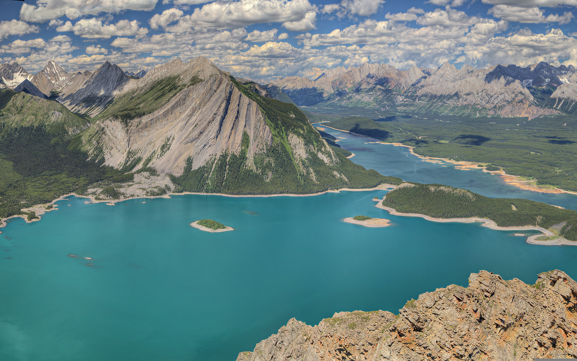
[[[265,82],[365,62],[397,69],[577,65],[577,0],[0,0],[0,62],[31,73],[203,55]]]

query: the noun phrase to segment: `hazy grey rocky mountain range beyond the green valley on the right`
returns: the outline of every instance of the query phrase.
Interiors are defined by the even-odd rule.
[[[288,76],[272,81],[297,105],[362,107],[402,113],[466,117],[539,117],[577,111],[577,71],[545,62],[486,69],[445,62],[439,68],[365,63],[328,70],[314,80]]]

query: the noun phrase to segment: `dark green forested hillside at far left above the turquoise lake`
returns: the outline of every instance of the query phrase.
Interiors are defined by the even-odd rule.
[[[25,92],[0,90],[0,217],[47,203],[107,180],[132,174],[90,161],[74,146],[74,135],[90,124],[54,101]]]

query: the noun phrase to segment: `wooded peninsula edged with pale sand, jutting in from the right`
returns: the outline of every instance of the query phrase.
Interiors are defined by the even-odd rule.
[[[377,207],[393,215],[435,222],[484,222],[499,230],[539,230],[533,244],[577,245],[577,211],[519,198],[488,198],[442,184],[403,183],[388,192]],[[554,239],[552,238],[554,237]]]

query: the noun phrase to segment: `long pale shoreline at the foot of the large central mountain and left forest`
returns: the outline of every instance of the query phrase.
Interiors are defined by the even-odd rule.
[[[290,193],[281,193],[281,194],[260,194],[260,195],[232,195],[232,194],[224,194],[224,193],[199,193],[199,192],[182,192],[182,193],[166,193],[165,195],[162,196],[136,196],[136,197],[130,197],[130,198],[123,198],[123,199],[106,199],[106,200],[96,200],[95,196],[84,196],[84,195],[78,195],[76,193],[68,193],[62,196],[59,196],[57,199],[54,199],[52,202],[50,203],[46,203],[46,204],[36,204],[35,206],[29,207],[29,208],[25,208],[22,211],[23,212],[29,212],[29,211],[35,211],[36,215],[38,217],[40,217],[40,215],[48,212],[48,211],[52,211],[52,210],[57,210],[58,208],[56,206],[54,206],[54,203],[60,201],[60,200],[64,200],[66,199],[66,197],[68,196],[75,196],[77,198],[86,198],[89,199],[89,201],[85,201],[84,203],[106,203],[108,206],[114,206],[115,203],[119,203],[119,202],[124,202],[125,200],[130,200],[130,199],[142,199],[142,198],[149,198],[149,199],[153,199],[153,198],[170,198],[170,196],[172,195],[186,195],[186,194],[196,194],[196,195],[215,195],[215,196],[223,196],[223,197],[234,197],[234,198],[239,198],[239,197],[277,197],[277,196],[288,196],[288,197],[308,197],[308,196],[318,196],[324,193],[339,193],[340,191],[350,191],[350,192],[364,192],[364,191],[376,191],[376,190],[385,190],[388,188],[395,188],[396,186],[393,184],[380,184],[377,185],[377,187],[373,187],[373,188],[361,188],[361,189],[355,189],[355,188],[339,188],[336,191],[334,190],[329,190],[329,191],[324,191],[324,192],[318,192],[318,193],[310,193],[310,194],[290,194]],[[143,202],[146,203],[146,202]],[[54,208],[47,210],[46,207],[52,205]],[[12,215],[10,217],[6,217],[6,218],[2,218],[0,219],[0,228],[6,226],[6,221],[8,219],[11,218],[24,218],[24,221],[27,223],[31,223],[31,222],[36,222],[36,221],[40,221],[41,218],[35,218],[32,219],[31,221],[28,221],[28,219],[26,218],[27,215],[25,214],[16,214],[16,215]],[[0,232],[1,233],[1,232]]]

